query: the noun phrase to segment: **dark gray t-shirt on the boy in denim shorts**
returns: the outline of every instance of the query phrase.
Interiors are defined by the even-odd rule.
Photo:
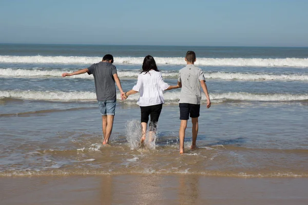
[[[113,74],[117,73],[117,68],[108,62],[100,61],[89,68],[88,74],[93,74],[95,91],[98,101],[117,100]]]

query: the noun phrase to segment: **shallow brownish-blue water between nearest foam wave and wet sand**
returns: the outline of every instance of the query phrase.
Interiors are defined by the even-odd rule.
[[[202,107],[199,148],[189,149],[188,125],[184,155],[179,155],[178,106],[163,107],[155,146],[143,148],[138,147],[139,107],[118,104],[110,146],[102,146],[101,117],[91,106],[1,117],[7,133],[2,134],[1,175],[308,176],[306,110],[296,104]]]

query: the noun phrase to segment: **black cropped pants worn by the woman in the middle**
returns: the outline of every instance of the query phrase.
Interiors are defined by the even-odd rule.
[[[149,115],[151,116],[149,130],[154,131],[157,127],[157,122],[162,111],[163,104],[154,105],[154,106],[140,106],[141,110],[141,122],[148,123]]]

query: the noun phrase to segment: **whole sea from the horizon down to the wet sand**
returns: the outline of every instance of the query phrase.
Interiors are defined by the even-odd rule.
[[[180,89],[164,92],[155,141],[140,147],[138,94],[117,93],[110,146],[93,76],[61,77],[114,56],[124,91],[143,58],[177,84],[186,51],[196,52],[202,95],[196,150],[179,154]],[[0,175],[201,174],[308,176],[308,48],[0,45]]]

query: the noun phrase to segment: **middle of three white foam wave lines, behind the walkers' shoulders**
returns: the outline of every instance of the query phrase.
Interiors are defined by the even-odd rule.
[[[75,69],[76,70],[76,69]],[[72,72],[72,70],[25,70],[25,69],[0,69],[2,77],[61,77],[63,72]],[[140,70],[118,70],[120,77],[136,77]],[[162,71],[165,78],[177,78],[178,71]],[[74,75],[71,78],[90,78],[92,75],[81,74]],[[205,78],[224,79],[224,80],[308,80],[308,75],[300,74],[268,74],[268,73],[233,73],[233,72],[210,72],[205,73]]]

